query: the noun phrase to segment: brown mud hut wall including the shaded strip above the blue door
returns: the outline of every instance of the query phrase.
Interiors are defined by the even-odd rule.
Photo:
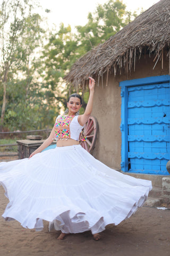
[[[98,120],[99,131],[93,151],[94,157],[115,170],[121,170],[121,88],[119,83],[125,80],[145,78],[150,76],[168,75],[169,63],[164,58],[164,69],[159,61],[154,67],[154,56],[142,56],[135,65],[135,72],[126,75],[109,74],[106,86],[106,76],[95,88],[94,107],[92,115]],[[122,72],[123,73],[123,72]]]

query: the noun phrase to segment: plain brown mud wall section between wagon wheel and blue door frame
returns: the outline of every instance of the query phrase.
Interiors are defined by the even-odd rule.
[[[104,88],[99,85],[95,88],[94,115],[99,124],[97,142],[93,155],[108,166],[120,169],[121,163],[121,88],[110,76],[108,85],[104,79]]]

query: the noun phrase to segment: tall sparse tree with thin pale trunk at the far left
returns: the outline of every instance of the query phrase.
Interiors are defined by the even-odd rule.
[[[0,83],[3,85],[3,102],[1,111],[1,129],[4,124],[5,108],[6,108],[6,92],[9,73],[22,66],[25,61],[24,57],[30,55],[32,49],[30,42],[30,34],[27,29],[30,18],[32,23],[28,27],[31,29],[35,17],[31,17],[32,5],[30,0],[3,0],[0,11]],[[34,19],[33,19],[34,18]],[[37,19],[38,20],[38,19]],[[33,29],[32,29],[33,31]],[[32,33],[31,31],[31,33]],[[35,36],[32,36],[35,38]],[[31,39],[32,39],[31,37]],[[24,42],[23,42],[24,41]],[[29,42],[29,44],[27,43]],[[27,45],[24,49],[23,46]],[[29,45],[29,46],[28,46]],[[34,44],[35,46],[35,44]],[[28,63],[28,60],[26,61]]]

